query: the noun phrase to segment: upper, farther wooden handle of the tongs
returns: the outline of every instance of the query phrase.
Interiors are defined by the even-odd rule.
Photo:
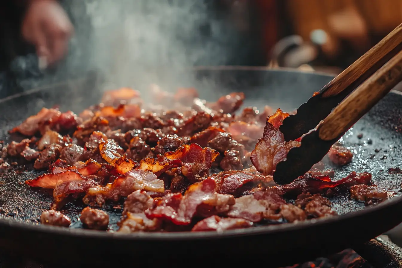
[[[396,55],[401,50],[401,44],[402,24],[324,86],[320,94],[326,98],[339,94],[354,82],[360,84]]]

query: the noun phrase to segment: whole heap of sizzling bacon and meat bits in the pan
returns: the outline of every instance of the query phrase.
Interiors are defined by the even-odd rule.
[[[153,90],[153,105],[121,88],[79,116],[43,108],[10,131],[25,139],[3,143],[2,170],[41,170],[25,183],[53,190],[42,224],[69,226],[60,210],[71,200],[86,204],[80,220],[97,230],[108,229],[105,205],[122,205],[119,231],[127,233],[299,222],[336,215],[327,197],[339,193],[367,205],[387,198],[371,185],[371,174],[352,172],[332,181],[334,172],[322,163],[289,185],[276,185],[276,164],[300,144],[285,142],[279,131],[288,113],[266,106],[235,115],[242,93],[210,103],[192,88]],[[328,153],[338,165],[352,157],[339,145]]]

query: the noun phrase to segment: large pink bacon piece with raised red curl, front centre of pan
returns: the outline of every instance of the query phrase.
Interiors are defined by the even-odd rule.
[[[217,194],[215,180],[207,178],[192,184],[184,196],[180,193],[167,194],[157,202],[155,208],[147,209],[145,214],[149,219],[164,219],[176,225],[188,225],[197,212],[203,216],[207,211],[223,213],[232,205],[234,197]]]

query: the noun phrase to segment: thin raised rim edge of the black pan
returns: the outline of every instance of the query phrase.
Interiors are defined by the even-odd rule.
[[[300,70],[291,70],[286,68],[279,68],[279,69],[267,69],[264,67],[255,67],[255,68],[244,68],[244,66],[225,66],[224,70],[250,70],[250,71],[273,71],[273,72],[297,72],[297,73],[308,73],[312,75],[320,75],[320,76],[327,76],[327,77],[334,77],[328,74],[320,74],[320,73],[312,73]],[[203,69],[205,68],[205,69]],[[222,70],[218,69],[217,70]],[[195,68],[195,70],[211,70],[210,67],[199,67]],[[82,79],[82,78],[81,78]],[[77,80],[74,80],[77,81]],[[65,82],[57,83],[57,84],[64,84]],[[33,94],[42,90],[46,90],[47,88],[51,88],[53,85],[43,86],[41,88],[35,88],[33,90],[28,90],[26,92],[20,94],[14,94],[10,97],[3,98],[0,100],[0,103],[11,100],[14,98],[18,98],[21,96]],[[402,96],[402,92],[397,90],[391,90],[393,94],[398,94]],[[107,231],[95,231],[95,230],[88,230],[88,229],[72,229],[72,228],[63,228],[51,225],[33,225],[30,223],[19,222],[14,219],[0,219],[0,228],[13,228],[16,230],[22,231],[32,231],[36,233],[43,233],[43,234],[51,234],[51,235],[62,235],[62,236],[69,236],[69,237],[90,237],[94,239],[113,239],[113,240],[132,240],[132,241],[169,241],[169,240],[202,240],[202,239],[224,239],[229,237],[241,237],[241,236],[256,236],[256,235],[269,235],[272,233],[283,233],[287,231],[297,231],[299,229],[311,228],[320,225],[325,225],[328,223],[342,223],[343,221],[347,221],[353,217],[359,217],[362,215],[367,215],[371,213],[375,213],[378,210],[386,209],[387,207],[392,207],[398,203],[402,202],[402,196],[392,197],[383,203],[378,205],[374,205],[369,208],[365,208],[359,211],[354,211],[351,213],[347,213],[344,215],[332,216],[324,219],[310,219],[305,222],[300,223],[284,223],[279,225],[268,225],[268,226],[259,226],[259,227],[251,227],[251,228],[242,228],[242,229],[234,229],[234,230],[226,230],[222,232],[216,231],[199,231],[199,232],[170,232],[170,233],[161,233],[161,232],[138,232],[138,233],[117,233],[117,232],[107,232]]]

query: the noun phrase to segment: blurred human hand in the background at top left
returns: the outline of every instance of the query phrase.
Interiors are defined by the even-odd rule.
[[[56,0],[29,0],[21,31],[35,45],[39,59],[53,65],[66,54],[74,29]]]

